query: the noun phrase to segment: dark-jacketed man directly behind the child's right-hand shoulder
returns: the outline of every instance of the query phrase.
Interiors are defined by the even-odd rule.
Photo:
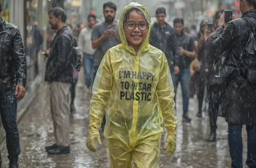
[[[155,11],[155,15],[157,22],[151,27],[149,43],[165,54],[170,71],[177,74],[179,68],[175,30],[164,21],[166,17],[164,7],[158,7]]]

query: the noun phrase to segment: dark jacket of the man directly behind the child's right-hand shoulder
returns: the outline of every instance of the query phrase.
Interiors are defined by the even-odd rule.
[[[169,24],[159,27],[155,22],[150,31],[149,43],[160,49],[166,56],[170,67],[178,65],[176,32]]]

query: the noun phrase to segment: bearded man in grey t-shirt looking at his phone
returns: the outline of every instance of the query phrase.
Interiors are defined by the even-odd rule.
[[[92,48],[96,49],[94,53],[94,77],[96,76],[99,64],[106,51],[121,43],[118,23],[114,20],[116,13],[116,5],[113,2],[103,4],[103,14],[105,21],[96,24],[91,33]],[[100,127],[100,131],[104,130],[105,116]]]

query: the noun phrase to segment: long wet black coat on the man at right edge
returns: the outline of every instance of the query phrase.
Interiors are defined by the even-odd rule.
[[[256,10],[249,10],[243,18],[253,20],[256,27]],[[211,42],[215,55],[227,50],[227,66],[232,75],[226,79],[221,110],[228,123],[256,124],[256,89],[248,83],[239,68],[240,54],[249,38],[251,29],[245,20],[230,21],[225,29],[218,28]]]

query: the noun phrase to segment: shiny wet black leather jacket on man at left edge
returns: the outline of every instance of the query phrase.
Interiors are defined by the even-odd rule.
[[[0,93],[25,86],[26,59],[18,27],[0,20]]]

